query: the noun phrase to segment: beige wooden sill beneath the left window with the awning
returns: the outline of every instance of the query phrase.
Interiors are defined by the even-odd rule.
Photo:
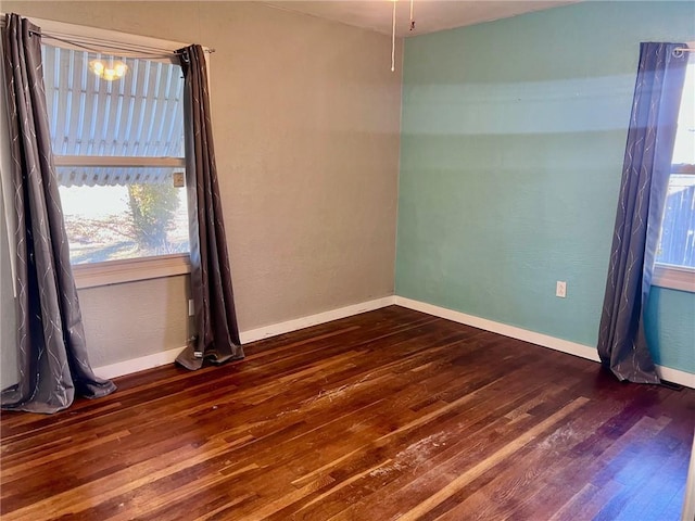
[[[73,266],[77,289],[136,282],[190,274],[188,254],[162,255],[157,257],[129,258],[105,263]]]

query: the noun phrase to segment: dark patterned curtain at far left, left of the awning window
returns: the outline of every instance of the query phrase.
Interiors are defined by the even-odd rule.
[[[54,174],[38,27],[9,14],[2,33],[16,231],[20,382],[3,409],[55,412],[75,393],[94,398],[115,385],[94,377]]]

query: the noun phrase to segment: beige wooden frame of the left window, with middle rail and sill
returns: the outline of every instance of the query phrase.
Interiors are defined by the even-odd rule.
[[[112,29],[102,29],[84,25],[67,24],[51,20],[28,17],[31,23],[41,27],[42,31],[65,39],[77,40],[101,40],[110,43],[123,46],[127,50],[148,49],[181,49],[189,43],[152,38],[148,36],[121,33]],[[4,13],[2,13],[2,25],[4,26]],[[70,48],[61,42],[58,47]],[[205,49],[206,67],[210,72],[210,53],[212,50]],[[173,166],[186,167],[186,158],[179,157],[118,157],[118,156],[65,156],[55,155],[56,166]],[[119,260],[106,260],[101,263],[80,264],[72,266],[75,284],[78,289],[97,288],[109,284],[136,282],[162,277],[172,277],[190,274],[190,255],[170,254],[156,255],[151,257],[128,258]]]

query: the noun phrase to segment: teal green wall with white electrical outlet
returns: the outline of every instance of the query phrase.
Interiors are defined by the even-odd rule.
[[[639,43],[694,21],[585,2],[408,38],[396,294],[596,345]],[[657,361],[695,372],[695,295],[653,301]]]

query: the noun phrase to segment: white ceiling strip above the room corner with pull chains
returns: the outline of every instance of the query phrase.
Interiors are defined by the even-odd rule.
[[[414,0],[415,30],[409,30],[409,0],[396,1],[396,35],[437,30],[507,18],[581,0]],[[268,5],[391,35],[393,0],[280,0]]]

